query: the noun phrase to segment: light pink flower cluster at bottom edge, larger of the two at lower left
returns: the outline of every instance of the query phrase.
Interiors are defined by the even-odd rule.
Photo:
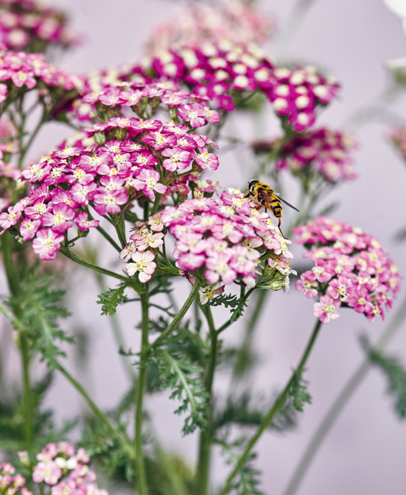
[[[24,465],[27,452],[18,453]],[[94,483],[96,474],[88,466],[90,458],[84,448],[75,451],[68,442],[48,444],[37,454],[37,460],[33,481],[50,485],[51,495],[108,495]]]

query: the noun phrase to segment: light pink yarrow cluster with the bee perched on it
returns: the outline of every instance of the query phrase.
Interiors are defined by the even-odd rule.
[[[253,287],[261,259],[268,259],[267,270],[276,275],[277,287],[272,288],[288,288],[291,241],[280,235],[266,213],[236,193],[225,191],[220,200],[186,199],[180,206],[162,211],[163,225],[177,240],[176,266],[189,280],[204,266],[204,278],[213,291],[220,283],[236,280]]]

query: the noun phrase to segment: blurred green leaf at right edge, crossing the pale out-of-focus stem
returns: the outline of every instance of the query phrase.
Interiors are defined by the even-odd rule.
[[[394,398],[394,407],[400,418],[406,417],[406,370],[395,356],[385,355],[382,351],[369,347],[367,355],[388,380],[387,393]]]

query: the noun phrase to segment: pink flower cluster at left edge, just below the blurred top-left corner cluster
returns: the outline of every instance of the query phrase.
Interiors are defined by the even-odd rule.
[[[26,86],[28,89],[38,87],[46,95],[47,88],[62,87],[65,90],[83,87],[83,81],[74,74],[56,69],[44,59],[43,53],[26,53],[24,51],[0,52],[0,103],[10,93],[15,97],[16,88]],[[41,84],[40,84],[41,82]]]

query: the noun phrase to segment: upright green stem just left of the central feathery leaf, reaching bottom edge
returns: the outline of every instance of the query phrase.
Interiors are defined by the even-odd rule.
[[[146,386],[146,371],[148,364],[148,330],[149,330],[149,316],[148,316],[148,292],[140,294],[141,297],[141,359],[139,363],[139,375],[138,382],[135,391],[135,453],[136,453],[136,467],[137,467],[137,489],[139,495],[147,495],[148,489],[145,478],[145,466],[144,456],[142,452],[142,399],[144,396],[144,390]]]

